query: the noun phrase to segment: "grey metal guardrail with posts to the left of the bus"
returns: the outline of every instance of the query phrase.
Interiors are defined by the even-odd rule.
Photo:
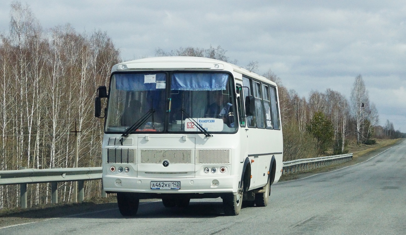
[[[78,181],[79,202],[84,200],[84,181],[102,179],[102,167],[50,168],[0,171],[0,185],[20,185],[20,206],[27,208],[27,184],[51,183],[51,203],[58,203],[58,182]],[[102,196],[106,193],[102,191]]]

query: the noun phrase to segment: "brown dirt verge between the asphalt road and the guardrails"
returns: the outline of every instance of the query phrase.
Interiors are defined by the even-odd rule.
[[[395,145],[403,140],[404,139],[378,140],[375,146],[350,144],[350,153],[354,153],[352,161],[340,165],[333,165],[317,170],[311,170],[308,172],[283,175],[280,181],[289,181],[298,178],[304,178],[313,174],[336,170],[348,165],[354,165],[375,156],[376,154],[389,148],[389,146]],[[156,199],[141,200],[141,202],[155,200]],[[0,229],[4,227],[16,226],[18,224],[39,222],[41,220],[47,220],[51,218],[69,217],[72,215],[83,213],[83,211],[102,211],[113,208],[117,208],[117,198],[116,196],[109,195],[108,198],[91,198],[82,203],[59,203],[56,205],[41,205],[28,209],[5,209],[0,211]]]

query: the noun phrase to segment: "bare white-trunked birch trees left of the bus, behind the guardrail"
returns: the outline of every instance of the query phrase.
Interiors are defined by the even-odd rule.
[[[0,35],[1,170],[73,167],[75,122],[79,167],[101,165],[102,122],[93,118],[96,87],[106,85],[119,51],[101,31],[78,33],[69,24],[41,28],[28,6],[13,2],[10,30]],[[28,203],[50,202],[47,184],[28,185]],[[60,201],[71,200],[60,184]],[[86,196],[100,192],[86,183]],[[0,209],[18,205],[18,187],[0,186]]]

